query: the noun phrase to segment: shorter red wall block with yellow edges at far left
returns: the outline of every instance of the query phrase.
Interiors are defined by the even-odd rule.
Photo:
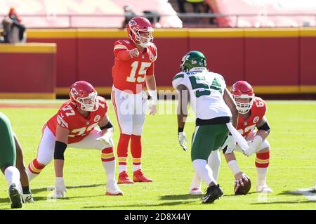
[[[0,44],[0,98],[55,98],[55,44]]]

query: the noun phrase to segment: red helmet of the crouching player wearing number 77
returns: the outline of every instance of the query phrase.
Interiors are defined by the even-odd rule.
[[[98,110],[98,93],[91,84],[86,81],[76,81],[70,86],[70,100],[81,110]]]

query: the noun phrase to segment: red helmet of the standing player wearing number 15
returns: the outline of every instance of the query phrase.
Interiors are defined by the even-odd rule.
[[[140,16],[132,18],[129,20],[129,24],[127,25],[126,29],[129,39],[143,48],[150,46],[152,40],[154,39],[154,37],[152,37],[154,28],[152,28],[152,24],[149,20],[147,20],[147,18]],[[148,33],[148,36],[143,37],[143,35],[140,35],[142,33]]]

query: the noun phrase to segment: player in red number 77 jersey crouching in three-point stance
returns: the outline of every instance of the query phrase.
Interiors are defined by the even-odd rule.
[[[96,129],[99,126],[100,129]],[[70,100],[49,119],[42,129],[37,158],[29,163],[29,181],[39,175],[54,158],[55,198],[65,197],[67,189],[63,179],[64,152],[67,147],[101,150],[101,160],[107,175],[105,195],[123,195],[115,180],[113,128],[107,116],[107,102],[97,95],[86,81],[70,86]]]

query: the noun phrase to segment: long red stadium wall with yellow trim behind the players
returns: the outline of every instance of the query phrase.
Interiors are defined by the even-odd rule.
[[[113,44],[122,29],[29,30],[29,42],[57,44],[57,93],[84,79],[109,94]],[[159,88],[171,88],[187,51],[202,51],[228,85],[245,79],[257,93],[316,93],[316,29],[157,29],[155,66]]]

